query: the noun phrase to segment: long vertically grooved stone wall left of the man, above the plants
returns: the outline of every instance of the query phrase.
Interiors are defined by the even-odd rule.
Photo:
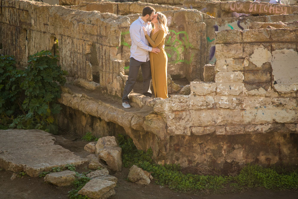
[[[124,73],[124,61],[117,48],[122,30],[130,25],[128,17],[36,1],[1,2],[3,54],[15,55],[24,66],[29,55],[52,50],[69,76],[94,80],[104,92],[121,96],[124,82],[119,75]]]

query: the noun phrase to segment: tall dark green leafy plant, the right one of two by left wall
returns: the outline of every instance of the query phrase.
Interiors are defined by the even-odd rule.
[[[65,84],[63,75],[67,75],[67,72],[58,66],[58,56],[53,56],[48,50],[30,55],[28,63],[21,83],[25,93],[22,108],[26,113],[15,118],[10,127],[43,129],[55,133],[58,126],[54,123],[54,115],[62,109],[56,103],[61,94],[59,84]]]

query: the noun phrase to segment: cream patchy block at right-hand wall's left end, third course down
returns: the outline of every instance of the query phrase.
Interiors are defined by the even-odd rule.
[[[226,58],[226,59],[216,59],[215,70],[216,71],[234,71],[234,70],[243,70],[245,63],[248,63],[247,60],[243,58]]]

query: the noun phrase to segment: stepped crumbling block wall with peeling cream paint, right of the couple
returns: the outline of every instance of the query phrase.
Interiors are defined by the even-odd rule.
[[[297,161],[297,41],[297,29],[217,32],[215,82],[153,107],[170,135],[167,163]]]

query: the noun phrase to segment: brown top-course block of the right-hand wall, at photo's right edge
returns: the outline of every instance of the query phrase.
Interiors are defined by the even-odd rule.
[[[297,30],[271,29],[271,41],[273,42],[297,42]]]

